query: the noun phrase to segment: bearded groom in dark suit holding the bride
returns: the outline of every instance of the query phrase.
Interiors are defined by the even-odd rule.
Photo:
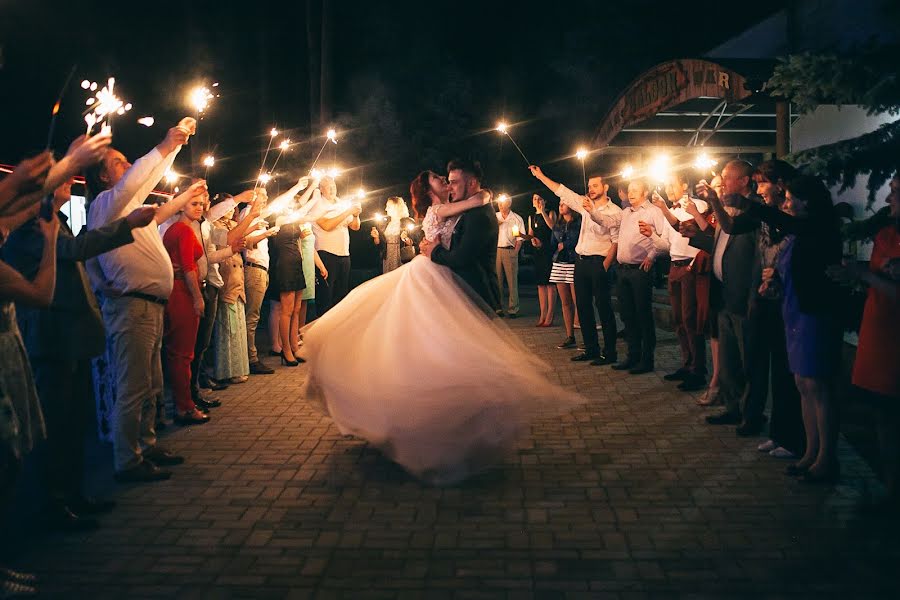
[[[481,165],[468,160],[452,160],[447,165],[451,201],[465,200],[481,191]],[[497,217],[489,204],[462,214],[450,249],[439,243],[422,241],[420,250],[439,265],[462,278],[494,310],[500,310],[497,288]]]

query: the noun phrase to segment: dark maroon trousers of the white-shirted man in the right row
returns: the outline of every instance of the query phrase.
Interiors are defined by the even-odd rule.
[[[706,377],[706,337],[703,325],[697,322],[697,275],[689,265],[672,265],[669,270],[669,299],[672,302],[672,321],[681,346],[682,368],[694,375]]]

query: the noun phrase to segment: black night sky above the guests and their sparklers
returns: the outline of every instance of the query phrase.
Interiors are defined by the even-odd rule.
[[[784,4],[762,0],[737,13],[709,0],[332,2],[331,122],[340,143],[321,164],[349,169],[339,191],[378,190],[379,202],[389,193],[406,196],[421,169],[467,156],[482,161],[488,187],[514,195],[520,213],[536,182],[515,148],[490,131],[498,119],[519,123],[511,132],[530,160],[579,184],[580,166],[569,157],[641,71],[699,56]],[[307,171],[321,148],[324,130],[309,127],[302,0],[0,0],[0,15],[2,163],[45,144],[50,108],[73,63],[59,152],[83,128],[87,95],[78,82],[109,75],[135,107],[114,122],[114,145],[132,159],[190,114],[184,98],[192,83],[220,83],[221,97],[192,142],[198,162],[215,148],[213,192],[239,190],[254,176],[273,125],[305,143],[279,163],[272,191]],[[144,115],[156,125],[138,125]],[[189,163],[185,148],[176,167],[188,172]],[[613,166],[588,159],[591,168]]]

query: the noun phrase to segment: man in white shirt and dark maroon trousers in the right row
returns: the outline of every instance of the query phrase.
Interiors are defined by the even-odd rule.
[[[680,224],[693,221],[694,216],[686,210],[689,204],[705,214],[709,206],[700,199],[690,199],[687,182],[679,173],[673,173],[666,182],[666,195],[672,208],[656,193],[653,205],[668,222],[668,227],[659,232],[669,243],[669,300],[672,305],[672,320],[675,334],[681,346],[681,367],[674,373],[665,375],[666,381],[680,381],[682,391],[702,390],[706,387],[706,336],[703,323],[697,321],[698,309],[709,306],[709,273],[700,272],[705,265],[695,264],[699,249],[690,245],[690,239],[679,233]]]

